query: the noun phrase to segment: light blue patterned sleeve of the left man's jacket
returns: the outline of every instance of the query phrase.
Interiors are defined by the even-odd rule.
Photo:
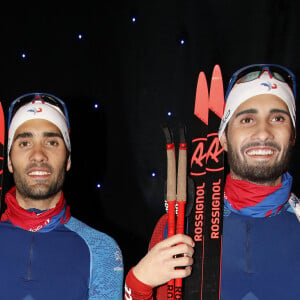
[[[71,218],[67,225],[90,249],[89,300],[120,300],[123,293],[122,253],[110,236]]]

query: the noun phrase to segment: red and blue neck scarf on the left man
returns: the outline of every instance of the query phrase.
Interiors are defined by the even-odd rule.
[[[9,220],[14,226],[28,231],[49,232],[59,224],[66,223],[70,217],[70,208],[63,193],[54,208],[43,212],[28,211],[19,206],[16,200],[16,187],[5,196],[7,209],[1,216],[1,222]]]

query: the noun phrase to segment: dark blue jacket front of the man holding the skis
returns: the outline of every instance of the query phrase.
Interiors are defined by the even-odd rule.
[[[300,299],[300,223],[281,213],[251,218],[225,210],[222,300]]]

